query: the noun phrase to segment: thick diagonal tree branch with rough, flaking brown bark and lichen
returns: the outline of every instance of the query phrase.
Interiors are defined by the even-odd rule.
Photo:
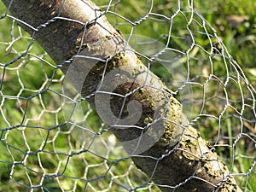
[[[10,1],[3,0],[3,3],[8,7]],[[102,75],[106,72],[119,74],[108,79],[108,83],[113,82],[113,85],[117,85],[114,82],[125,82],[118,84],[113,91],[122,95],[132,94],[125,97],[125,102],[124,97],[118,95],[109,97],[111,111],[115,116],[120,114],[125,118],[131,115],[132,110],[134,113],[141,110],[135,125],[147,127],[147,131],[144,130],[147,133],[145,139],[152,146],[140,150],[140,146],[136,148],[133,145],[136,143],[129,143],[142,135],[142,130],[133,125],[126,129],[113,126],[113,134],[124,143],[129,153],[137,154],[132,156],[135,165],[152,177],[162,191],[174,188],[175,191],[241,191],[218,154],[212,152],[200,133],[188,125],[182,105],[172,96],[172,91],[148,72],[135,53],[128,50],[129,45],[125,44],[122,35],[110,26],[94,3],[86,0],[14,0],[10,12],[29,24],[19,23],[56,64],[62,65],[64,73],[69,67],[69,63],[64,61],[73,58],[78,51],[79,55],[106,60],[92,65],[88,60],[72,59],[71,66],[76,63],[78,70],[76,77],[70,78],[75,81],[83,76],[84,71],[88,71],[84,84],[75,86],[81,89],[83,96],[91,95],[88,101],[93,108],[97,105],[94,97],[101,98],[101,93],[97,95],[95,91]],[[108,86],[103,83],[104,89]],[[126,109],[127,103],[135,100],[137,102],[130,106],[131,111]],[[124,103],[125,110],[120,113]],[[162,131],[160,138],[157,131]]]

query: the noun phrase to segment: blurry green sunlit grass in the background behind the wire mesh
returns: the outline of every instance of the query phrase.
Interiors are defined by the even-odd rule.
[[[108,4],[108,1],[96,1],[96,3],[101,5],[102,9],[106,9],[104,5]],[[173,20],[172,38],[169,39],[168,45],[184,52],[189,49],[193,39],[189,38],[189,31],[186,28],[191,15],[187,12],[188,9],[183,9],[185,5],[183,3],[185,1],[181,4],[184,14],[177,15]],[[253,0],[196,1],[194,7],[217,31],[230,55],[242,67],[253,87],[256,87],[254,61],[256,2]],[[135,0],[121,1],[110,8],[132,22],[137,22],[149,9],[148,1]],[[161,15],[173,15],[175,9],[177,9],[177,1],[165,0],[154,1],[152,11]],[[0,15],[4,11],[3,3],[0,2]],[[232,15],[236,17],[230,17]],[[137,34],[131,38],[131,42],[135,42],[134,46],[137,46],[136,49],[143,55],[152,53],[148,52],[150,49],[144,49],[145,46],[148,48],[148,45],[136,44],[137,40],[159,39],[160,46],[168,42],[171,21],[165,20],[160,15],[151,15],[147,20],[140,20],[136,26],[131,26],[126,20],[113,14],[107,16],[113,26],[122,33],[128,34],[128,38],[131,32]],[[242,21],[239,21],[240,19]],[[189,28],[193,32],[195,43],[200,44],[204,49],[195,47],[189,52],[191,58],[189,80],[204,84],[211,70],[205,52],[211,49],[211,42],[203,33],[200,17],[195,15],[195,20],[197,22],[193,21]],[[235,26],[234,22],[238,22],[238,25]],[[212,29],[206,27],[207,32],[213,34]],[[137,38],[140,35],[148,39]],[[211,39],[218,47],[218,39]],[[70,115],[74,102],[65,100],[65,106],[61,106],[63,97],[60,93],[64,83],[67,91],[65,94],[76,98],[76,92],[66,83],[61,71],[55,69],[53,61],[37,43],[29,49],[29,55],[20,58],[9,67],[3,67],[25,52],[29,43],[29,36],[17,27],[13,20],[9,18],[0,20],[0,77],[3,77],[0,83],[2,114],[0,115],[0,191],[29,191],[30,186],[41,184],[44,186],[44,191],[73,189],[83,191],[85,187],[86,191],[104,191],[104,189],[107,191],[108,188],[113,191],[128,191],[131,186],[135,188],[146,183],[148,178],[136,170],[130,159],[125,159],[126,154],[122,149],[111,144],[113,137],[108,131],[103,131],[107,127],[102,125],[101,119],[86,102],[80,102],[81,106],[79,104],[76,106],[72,116]],[[175,54],[177,55],[178,52]],[[38,55],[41,59],[33,55]],[[143,55],[143,61],[147,61]],[[176,55],[173,55],[173,58]],[[161,58],[166,59],[165,55]],[[48,61],[52,66],[43,60]],[[249,107],[245,108],[243,115],[245,123],[241,130],[241,119],[237,118],[234,109],[229,107],[222,115],[221,121],[218,121],[218,114],[223,111],[225,104],[224,86],[221,81],[225,80],[226,68],[220,56],[212,57],[212,61],[214,61],[214,75],[219,79],[211,79],[204,89],[198,84],[190,84],[188,90],[183,90],[184,92],[177,97],[183,101],[184,106],[188,106],[186,110],[189,118],[195,119],[201,112],[202,93],[205,92],[205,106],[202,113],[212,114],[217,118],[201,116],[196,122],[196,128],[201,131],[202,137],[212,143],[235,174],[242,173],[236,175],[240,185],[246,187],[246,191],[255,191],[256,176],[253,160],[256,156],[254,146],[256,133],[253,132],[255,131],[253,123],[249,121],[255,119],[255,116]],[[166,68],[166,66],[163,67],[160,61],[156,61],[150,68],[172,90],[175,90],[187,77],[188,73],[180,71],[180,68],[185,71],[188,69],[186,58],[181,57],[177,67]],[[236,72],[232,72],[230,68],[230,77],[232,75],[235,76]],[[182,82],[177,82],[177,79]],[[239,90],[237,83],[237,79],[230,80],[227,84],[227,92],[234,101],[230,102],[230,105],[241,110],[240,100],[237,99],[241,97],[241,91],[237,91]],[[242,89],[245,88],[242,82],[241,86]],[[191,96],[189,91],[193,92],[193,100],[189,97]],[[245,97],[248,96],[246,89],[244,94]],[[246,102],[248,106],[253,104],[250,100]],[[71,122],[76,123],[75,125],[65,124],[69,117],[72,119]],[[84,127],[83,131],[79,125]],[[98,131],[102,131],[102,136],[95,134]],[[231,148],[240,132],[242,135],[236,143],[236,148]],[[27,154],[28,152],[32,153]],[[141,189],[141,191],[148,190],[158,191],[152,186]],[[36,188],[34,191],[42,191],[42,189]]]

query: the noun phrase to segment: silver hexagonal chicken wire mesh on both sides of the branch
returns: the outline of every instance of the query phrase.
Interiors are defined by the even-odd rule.
[[[183,104],[189,125],[241,189],[256,191],[255,89],[193,1],[95,3]],[[96,110],[88,104],[96,93],[81,96],[73,88],[80,74],[67,79],[17,25],[11,6],[0,3],[0,191],[160,191],[154,175],[131,160],[139,154],[127,153],[113,136],[101,102]]]

